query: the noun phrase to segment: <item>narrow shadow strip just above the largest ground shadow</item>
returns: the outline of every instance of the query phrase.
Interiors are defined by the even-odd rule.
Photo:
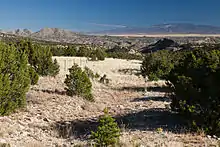
[[[171,102],[171,99],[168,97],[141,97],[134,98],[131,102],[141,102],[141,101],[161,101],[161,102]]]

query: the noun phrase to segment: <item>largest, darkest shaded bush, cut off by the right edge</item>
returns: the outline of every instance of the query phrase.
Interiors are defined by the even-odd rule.
[[[172,83],[171,108],[193,128],[220,135],[220,51],[194,50],[167,76]]]

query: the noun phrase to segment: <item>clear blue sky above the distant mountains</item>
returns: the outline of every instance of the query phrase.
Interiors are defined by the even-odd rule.
[[[0,29],[94,32],[162,23],[220,26],[220,0],[0,0]]]

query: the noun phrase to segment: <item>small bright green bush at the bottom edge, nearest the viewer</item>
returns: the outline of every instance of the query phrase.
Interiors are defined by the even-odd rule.
[[[119,142],[120,129],[109,114],[107,109],[104,110],[105,115],[99,119],[99,125],[96,132],[91,132],[90,139],[95,142],[95,146],[107,147],[115,145]]]

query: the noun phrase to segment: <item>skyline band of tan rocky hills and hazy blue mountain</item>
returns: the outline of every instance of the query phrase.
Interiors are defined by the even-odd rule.
[[[72,32],[59,28],[43,28],[37,32],[28,29],[16,29],[13,31],[0,30],[1,33],[34,37],[40,39],[74,39],[82,33]],[[124,27],[99,32],[85,33],[87,35],[132,35],[132,34],[220,34],[219,26],[195,25],[189,23],[159,24],[150,27]],[[84,34],[84,35],[85,35]]]

